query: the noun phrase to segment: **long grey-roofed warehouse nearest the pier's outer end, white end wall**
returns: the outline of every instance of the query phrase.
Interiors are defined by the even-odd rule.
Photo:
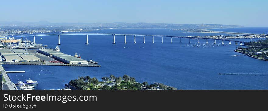
[[[83,60],[68,54],[55,54],[52,55],[52,57],[66,64],[88,64],[87,60]]]

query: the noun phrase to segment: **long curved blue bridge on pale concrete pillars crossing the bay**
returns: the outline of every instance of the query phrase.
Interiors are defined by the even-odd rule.
[[[115,44],[115,35],[119,36],[125,36],[125,43],[126,43],[126,36],[132,36],[134,37],[134,43],[136,43],[136,36],[143,36],[143,43],[145,43],[145,36],[146,37],[152,37],[153,43],[154,43],[154,37],[162,37],[162,43],[163,43],[163,37],[169,37],[171,38],[189,38],[189,43],[191,43],[190,39],[197,39],[197,43],[199,43],[199,39],[206,39],[206,43],[208,43],[208,39],[214,40],[214,44],[216,44],[216,40],[221,40],[222,44],[224,44],[224,41],[229,41],[229,44],[231,42],[235,42],[235,45],[240,43],[240,45],[243,45],[242,43],[245,43],[245,41],[237,41],[232,39],[215,39],[215,38],[204,38],[204,37],[188,37],[188,36],[170,36],[170,35],[146,35],[146,34],[111,34],[111,33],[65,33],[65,34],[33,34],[33,35],[20,35],[20,36],[12,36],[12,37],[34,37],[33,42],[35,42],[35,36],[52,36],[52,35],[58,35],[58,45],[60,45],[60,35],[86,35],[86,44],[88,43],[88,35],[111,35],[113,36],[113,44]]]

